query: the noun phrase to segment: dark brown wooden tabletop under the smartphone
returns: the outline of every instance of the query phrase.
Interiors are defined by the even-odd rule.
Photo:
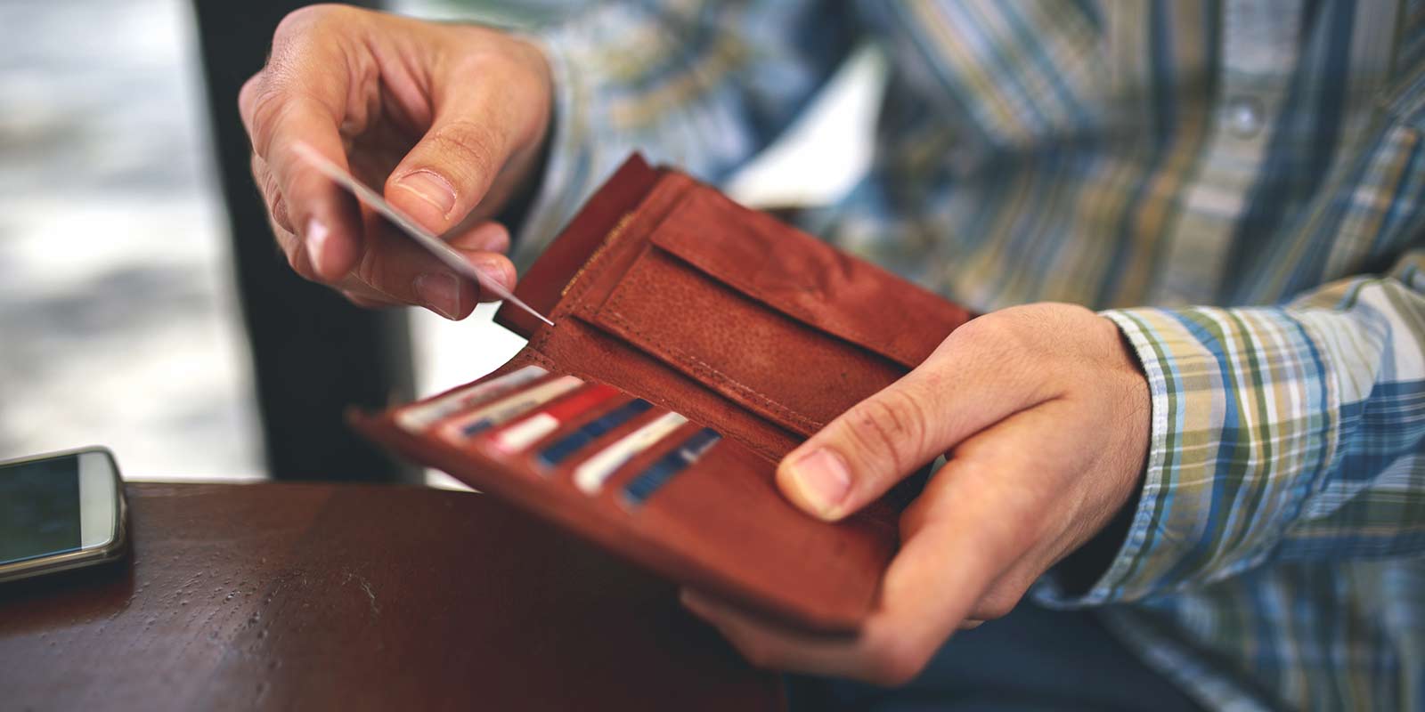
[[[133,554],[0,587],[4,709],[777,709],[674,590],[479,494],[130,484]]]

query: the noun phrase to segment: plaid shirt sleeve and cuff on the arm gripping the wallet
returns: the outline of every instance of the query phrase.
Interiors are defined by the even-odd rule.
[[[1425,553],[1425,248],[1281,308],[1117,309],[1153,402],[1144,486],[1084,595],[1133,601],[1268,561]]]

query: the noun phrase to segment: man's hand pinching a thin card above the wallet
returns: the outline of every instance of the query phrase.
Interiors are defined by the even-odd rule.
[[[490,218],[527,188],[549,127],[550,71],[523,40],[343,6],[276,28],[238,104],[272,231],[302,276],[363,306],[415,303],[460,319],[480,298],[415,242],[305,164],[305,142],[506,286],[507,231]]]

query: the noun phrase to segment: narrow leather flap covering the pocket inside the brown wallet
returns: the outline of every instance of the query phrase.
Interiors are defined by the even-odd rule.
[[[704,185],[688,191],[650,239],[738,292],[906,369],[969,319],[943,298]]]

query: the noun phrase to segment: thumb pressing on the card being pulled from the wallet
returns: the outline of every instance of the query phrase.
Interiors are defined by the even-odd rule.
[[[509,131],[483,87],[440,107],[386,181],[386,199],[440,235],[484,198],[510,155]]]

